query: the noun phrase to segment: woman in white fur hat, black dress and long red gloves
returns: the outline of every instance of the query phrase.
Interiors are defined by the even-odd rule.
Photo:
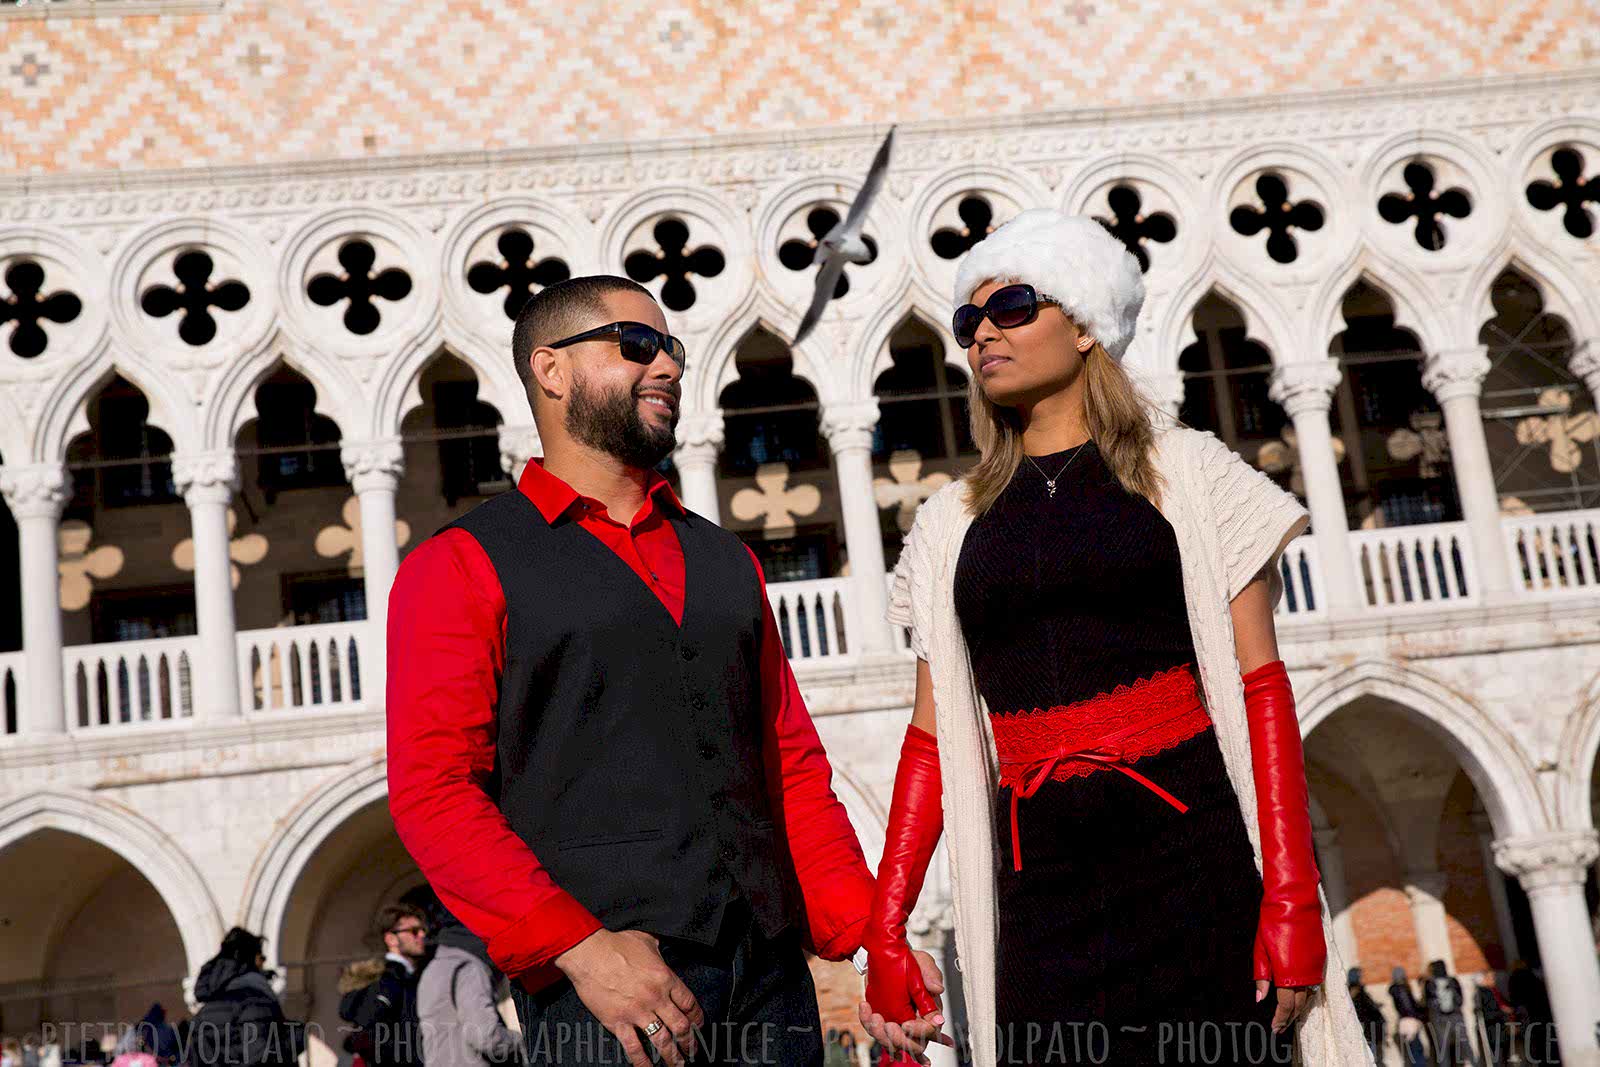
[[[938,1019],[898,934],[947,816],[979,1067],[1288,1062],[1294,1035],[1301,1062],[1370,1064],[1272,629],[1306,510],[1139,398],[1142,299],[1126,250],[1056,211],[958,269],[981,459],[894,568],[917,697],[864,1022]]]

